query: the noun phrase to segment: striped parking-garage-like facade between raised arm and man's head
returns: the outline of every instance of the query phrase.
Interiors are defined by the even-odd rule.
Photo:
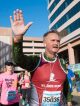
[[[39,55],[44,52],[43,39],[39,37],[23,37],[23,53],[27,55]]]

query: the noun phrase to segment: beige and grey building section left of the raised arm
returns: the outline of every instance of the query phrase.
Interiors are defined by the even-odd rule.
[[[11,29],[0,27],[0,70],[6,60],[11,60]]]

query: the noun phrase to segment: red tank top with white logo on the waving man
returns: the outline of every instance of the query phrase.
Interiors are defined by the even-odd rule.
[[[66,73],[60,65],[59,59],[47,62],[41,58],[40,64],[32,76],[39,101],[42,100],[43,91],[62,91]]]

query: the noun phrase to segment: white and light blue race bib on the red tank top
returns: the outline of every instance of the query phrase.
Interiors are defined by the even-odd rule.
[[[42,106],[60,106],[61,91],[44,91]]]

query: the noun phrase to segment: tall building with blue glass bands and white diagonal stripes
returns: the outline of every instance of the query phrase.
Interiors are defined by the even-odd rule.
[[[80,0],[49,0],[49,29],[60,32],[59,55],[70,64],[80,63]]]

